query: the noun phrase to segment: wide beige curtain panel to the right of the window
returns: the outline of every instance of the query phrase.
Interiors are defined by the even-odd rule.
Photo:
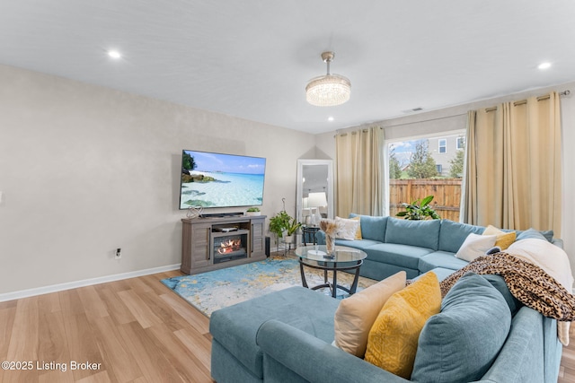
[[[463,222],[561,235],[556,92],[468,113]]]

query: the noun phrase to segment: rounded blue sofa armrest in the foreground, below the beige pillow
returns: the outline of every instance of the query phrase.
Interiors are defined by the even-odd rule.
[[[279,320],[263,323],[256,343],[264,358],[273,358],[310,382],[409,382]]]

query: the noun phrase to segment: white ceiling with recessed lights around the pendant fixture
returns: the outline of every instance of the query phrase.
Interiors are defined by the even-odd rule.
[[[0,64],[310,133],[575,81],[574,39],[572,0],[0,0]]]

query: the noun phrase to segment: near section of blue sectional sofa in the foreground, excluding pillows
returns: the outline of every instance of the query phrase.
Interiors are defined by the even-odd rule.
[[[215,311],[209,322],[213,379],[218,383],[408,382],[332,345],[338,305],[339,300],[329,296],[292,287]],[[478,381],[556,383],[562,345],[555,319],[525,306],[515,312],[497,359]],[[481,350],[482,344],[473,347]],[[459,356],[457,362],[464,364]]]

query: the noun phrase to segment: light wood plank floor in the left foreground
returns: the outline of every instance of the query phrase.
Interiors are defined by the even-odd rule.
[[[212,382],[208,318],[159,283],[175,275],[0,302],[0,361],[32,363],[0,370],[0,381]],[[72,370],[72,361],[95,370]],[[558,382],[575,382],[575,326]]]

